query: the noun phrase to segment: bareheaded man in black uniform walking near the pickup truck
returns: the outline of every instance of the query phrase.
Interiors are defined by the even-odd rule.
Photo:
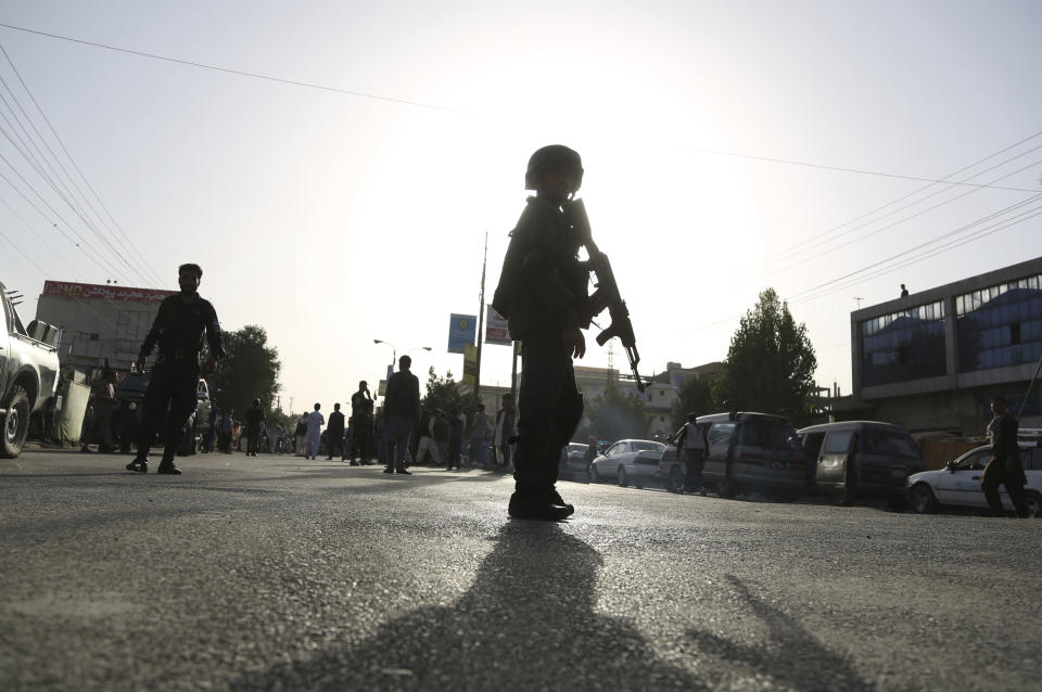
[[[217,359],[225,355],[217,312],[214,311],[214,306],[198,293],[202,279],[203,270],[199,265],[188,264],[177,268],[177,282],[181,291],[160,304],[152,329],[141,345],[137,361],[139,369],[144,369],[144,363],[156,345],[160,347],[160,355],[152,370],[149,388],[144,393],[138,454],[127,464],[128,471],[144,473],[149,470],[149,449],[163,418],[167,417],[169,407],[163,439],[163,460],[156,473],[181,473],[174,465],[174,454],[185,435],[185,424],[195,410],[195,390],[200,375],[199,354],[203,348],[204,333],[209,344],[209,360],[202,372],[213,372]]]

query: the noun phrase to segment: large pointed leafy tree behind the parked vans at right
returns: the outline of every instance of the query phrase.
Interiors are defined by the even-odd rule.
[[[796,425],[812,420],[817,358],[787,303],[774,289],[760,294],[730,339],[713,396],[745,411],[779,413]]]

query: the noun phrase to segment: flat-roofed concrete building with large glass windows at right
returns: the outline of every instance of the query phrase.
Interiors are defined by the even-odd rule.
[[[979,435],[1003,396],[1022,427],[1042,426],[1042,257],[856,310],[853,396],[842,418]]]

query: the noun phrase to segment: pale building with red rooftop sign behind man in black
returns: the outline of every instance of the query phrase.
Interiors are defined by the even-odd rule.
[[[109,359],[129,370],[152,328],[160,303],[176,291],[47,281],[36,319],[64,330],[59,347],[62,367],[89,371]]]

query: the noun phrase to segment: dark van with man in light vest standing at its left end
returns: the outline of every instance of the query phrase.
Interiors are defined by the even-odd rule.
[[[813,467],[788,419],[770,413],[714,413],[697,419],[710,425],[702,480],[722,498],[759,489],[791,498],[810,486]]]

